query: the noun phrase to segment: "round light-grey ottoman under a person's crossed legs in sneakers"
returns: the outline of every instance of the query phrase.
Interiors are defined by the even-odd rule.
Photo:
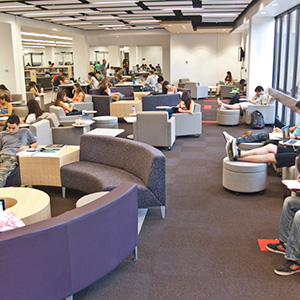
[[[256,193],[266,188],[267,164],[223,159],[223,187],[238,193]]]

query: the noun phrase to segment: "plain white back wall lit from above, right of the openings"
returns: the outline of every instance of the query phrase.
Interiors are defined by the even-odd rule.
[[[238,61],[241,34],[172,34],[171,82],[190,78],[201,85],[215,85],[226,71],[240,80]]]

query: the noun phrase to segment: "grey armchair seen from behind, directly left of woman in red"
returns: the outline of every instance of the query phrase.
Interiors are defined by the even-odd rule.
[[[140,111],[133,123],[135,141],[171,150],[175,142],[175,118],[166,111]]]

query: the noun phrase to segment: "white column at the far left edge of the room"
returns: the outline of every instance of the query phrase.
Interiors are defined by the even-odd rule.
[[[0,23],[0,35],[0,82],[13,94],[22,94],[26,99],[20,25]]]

